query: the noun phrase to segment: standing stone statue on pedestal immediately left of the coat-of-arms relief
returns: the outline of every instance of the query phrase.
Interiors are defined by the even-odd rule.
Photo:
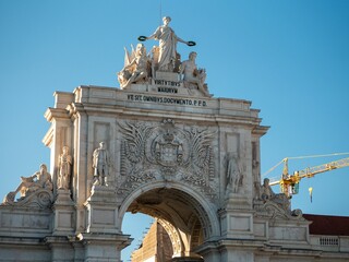
[[[99,143],[99,147],[93,154],[94,167],[94,186],[108,186],[107,177],[109,176],[109,153],[106,148],[105,142]]]

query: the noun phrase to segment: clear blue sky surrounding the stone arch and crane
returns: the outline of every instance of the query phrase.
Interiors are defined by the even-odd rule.
[[[123,48],[153,34],[164,15],[178,36],[196,41],[178,50],[182,58],[197,52],[215,97],[251,100],[261,109],[262,124],[270,126],[261,140],[262,174],[284,157],[349,152],[348,14],[347,0],[1,0],[1,198],[21,176],[49,164],[43,116],[53,92],[118,87]],[[157,41],[145,45],[149,50]],[[348,156],[294,159],[289,167]],[[348,180],[348,167],[303,179],[292,207],[349,216]],[[140,219],[123,223],[135,243],[149,223]]]

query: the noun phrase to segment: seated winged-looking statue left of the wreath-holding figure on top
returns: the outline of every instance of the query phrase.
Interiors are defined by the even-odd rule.
[[[146,81],[151,71],[151,59],[146,55],[143,44],[137,44],[136,50],[131,56],[125,57],[125,66],[118,73],[118,80],[122,90],[127,88],[131,83],[141,80]]]

